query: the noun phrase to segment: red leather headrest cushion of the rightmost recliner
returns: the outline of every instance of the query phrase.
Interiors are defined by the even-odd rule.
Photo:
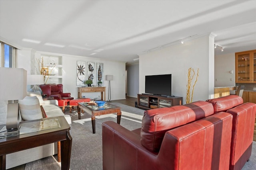
[[[214,113],[218,113],[220,111],[227,111],[233,107],[236,107],[240,104],[243,104],[243,98],[237,95],[229,95],[216,99],[209,99],[206,102],[210,102],[213,105]]]

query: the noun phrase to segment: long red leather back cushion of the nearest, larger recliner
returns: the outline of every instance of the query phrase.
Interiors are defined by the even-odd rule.
[[[212,104],[204,101],[147,110],[142,118],[141,144],[158,151],[166,131],[212,115],[213,111]]]

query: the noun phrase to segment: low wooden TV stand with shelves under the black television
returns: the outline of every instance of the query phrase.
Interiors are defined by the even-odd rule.
[[[182,97],[162,97],[146,94],[138,94],[138,107],[141,109],[156,109],[182,105]]]

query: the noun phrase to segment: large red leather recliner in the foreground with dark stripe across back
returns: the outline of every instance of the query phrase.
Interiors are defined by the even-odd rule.
[[[145,111],[134,131],[102,123],[103,170],[227,170],[232,115],[213,114],[198,101]]]

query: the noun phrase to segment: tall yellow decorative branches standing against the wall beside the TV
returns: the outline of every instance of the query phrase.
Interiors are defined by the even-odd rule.
[[[192,86],[192,80],[194,79],[195,71],[194,71],[194,68],[191,68],[191,67],[188,69],[188,83],[187,83],[186,104],[192,102],[193,94],[194,94],[194,88],[195,88],[196,82],[198,80],[198,75],[199,75],[199,68],[197,69],[196,80],[194,81],[194,84]],[[191,86],[192,86],[192,91],[190,89]],[[190,94],[191,94],[191,96],[190,96]]]

